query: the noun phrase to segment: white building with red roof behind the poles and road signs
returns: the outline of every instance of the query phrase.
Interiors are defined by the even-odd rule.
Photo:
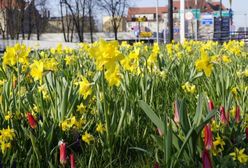
[[[179,28],[180,28],[180,0],[173,1],[173,18],[174,18],[174,36],[175,38],[179,37]],[[209,0],[200,0],[195,4],[195,0],[186,0],[185,1],[185,13],[192,9],[200,9],[201,15],[212,14],[214,11],[219,11],[220,3],[216,1]],[[222,5],[222,9],[226,8]],[[143,19],[142,18],[146,18]],[[158,8],[158,19],[159,19],[159,32],[163,34],[167,29],[168,23],[168,6]],[[195,27],[194,20],[186,20],[186,36],[194,34]],[[213,32],[213,24],[211,25],[201,25],[201,22],[198,21],[198,34]],[[156,23],[156,7],[130,7],[128,8],[127,15],[127,31],[135,32],[156,32],[157,23]]]

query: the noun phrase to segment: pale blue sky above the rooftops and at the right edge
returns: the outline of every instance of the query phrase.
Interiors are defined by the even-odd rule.
[[[130,6],[136,7],[154,7],[156,6],[156,0],[130,0]],[[223,4],[230,8],[229,0],[222,0]],[[52,14],[59,14],[58,0],[50,1]],[[159,0],[159,6],[165,6],[168,4],[168,0]],[[54,10],[54,6],[57,8]],[[234,11],[234,25],[238,27],[248,27],[248,0],[232,0],[232,9]],[[100,16],[97,16],[98,18]]]

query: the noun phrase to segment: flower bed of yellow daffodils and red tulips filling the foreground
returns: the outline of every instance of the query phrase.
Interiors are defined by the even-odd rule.
[[[8,47],[1,164],[245,167],[247,65],[237,41]]]

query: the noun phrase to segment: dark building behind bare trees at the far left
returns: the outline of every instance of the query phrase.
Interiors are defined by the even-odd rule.
[[[0,0],[0,34],[12,39],[24,33],[40,34],[46,12],[40,14],[34,0]]]

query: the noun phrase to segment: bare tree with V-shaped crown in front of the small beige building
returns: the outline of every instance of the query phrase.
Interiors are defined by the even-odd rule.
[[[117,40],[118,28],[120,27],[121,20],[124,17],[126,8],[128,7],[129,0],[98,0],[98,6],[105,10],[111,16],[111,24]]]

